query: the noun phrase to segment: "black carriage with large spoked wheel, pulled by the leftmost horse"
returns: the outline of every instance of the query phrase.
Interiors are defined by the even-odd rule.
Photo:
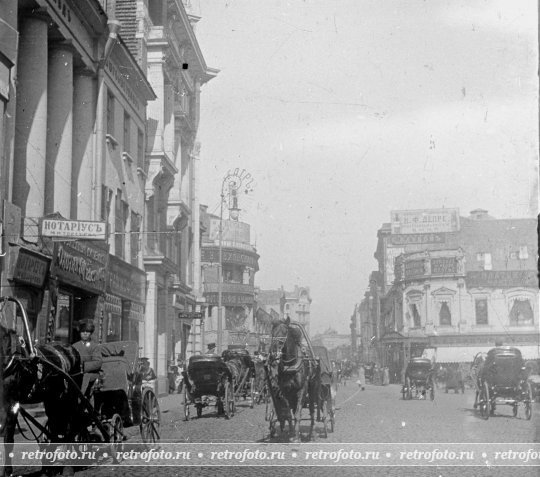
[[[142,441],[156,443],[160,438],[161,411],[153,385],[143,380],[139,344],[103,343],[99,350],[103,361],[94,385],[94,407],[113,442],[120,442],[124,426],[139,426]]]

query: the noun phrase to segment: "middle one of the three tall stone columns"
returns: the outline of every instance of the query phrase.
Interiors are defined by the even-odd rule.
[[[71,217],[73,154],[73,50],[55,43],[49,51],[45,214]]]

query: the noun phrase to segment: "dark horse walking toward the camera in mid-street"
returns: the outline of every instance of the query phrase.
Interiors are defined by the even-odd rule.
[[[311,438],[318,396],[316,365],[308,356],[301,340],[300,328],[291,325],[289,318],[272,324],[272,341],[267,362],[269,387],[281,431],[285,421],[288,421],[289,434],[293,435],[295,442],[300,440],[300,420],[306,402],[311,416]]]

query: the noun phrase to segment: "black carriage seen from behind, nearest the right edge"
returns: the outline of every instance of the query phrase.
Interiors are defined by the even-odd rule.
[[[519,349],[509,346],[491,349],[478,373],[478,387],[478,406],[484,419],[494,415],[499,404],[512,406],[514,417],[522,404],[525,419],[531,418],[533,391]]]

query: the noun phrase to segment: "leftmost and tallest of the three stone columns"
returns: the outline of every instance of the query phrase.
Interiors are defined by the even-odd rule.
[[[23,217],[41,217],[47,147],[47,21],[24,18],[17,64],[13,203]]]

